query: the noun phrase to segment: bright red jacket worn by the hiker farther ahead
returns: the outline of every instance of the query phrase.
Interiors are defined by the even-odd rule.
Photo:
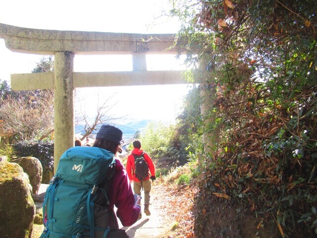
[[[126,170],[127,170],[127,174],[129,176],[130,181],[132,181],[132,180],[136,181],[136,182],[140,181],[139,179],[137,179],[135,177],[135,174],[134,174],[134,171],[135,171],[135,168],[134,168],[134,156],[132,154],[141,155],[142,153],[143,153],[143,150],[138,149],[138,148],[134,148],[132,150],[131,154],[128,156]],[[148,153],[144,153],[144,160],[145,160],[145,162],[147,162],[147,164],[149,166],[149,170],[150,170],[151,176],[155,176],[155,167],[154,167],[152,159],[151,159],[151,157],[149,156]],[[147,180],[147,179],[150,179],[150,176],[148,176],[144,180]]]

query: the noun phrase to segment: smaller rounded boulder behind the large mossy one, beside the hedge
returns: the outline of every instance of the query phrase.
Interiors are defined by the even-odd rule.
[[[43,167],[41,162],[35,157],[21,157],[11,160],[11,163],[17,163],[23,171],[29,176],[32,185],[32,193],[37,193],[42,182]]]

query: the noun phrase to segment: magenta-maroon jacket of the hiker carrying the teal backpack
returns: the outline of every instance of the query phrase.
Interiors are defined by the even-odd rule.
[[[109,212],[111,211],[109,214],[110,228],[118,228],[118,221],[113,212],[114,205],[117,208],[116,216],[120,219],[123,226],[129,227],[138,220],[141,208],[134,206],[135,200],[130,180],[122,163],[118,159],[115,159],[115,174],[109,186],[108,199],[110,202],[108,210]]]

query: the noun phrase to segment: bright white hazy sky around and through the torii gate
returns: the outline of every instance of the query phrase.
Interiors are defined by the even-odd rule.
[[[0,23],[37,29],[78,30],[121,33],[176,33],[177,19],[164,15],[168,0],[10,0],[1,3]],[[0,39],[0,79],[12,73],[29,73],[43,56],[13,53]],[[74,71],[129,71],[131,56],[77,56]],[[181,61],[147,57],[148,70],[182,69]],[[86,108],[94,113],[97,95],[115,95],[113,115],[137,119],[172,120],[179,112],[186,85],[108,87],[80,89]],[[101,99],[100,99],[101,100]],[[139,101],[139,107],[134,106]]]

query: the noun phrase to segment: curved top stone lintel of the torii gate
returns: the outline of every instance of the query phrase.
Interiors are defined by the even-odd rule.
[[[174,34],[134,34],[30,29],[0,23],[0,38],[14,52],[54,55],[55,52],[126,54],[175,52]]]

